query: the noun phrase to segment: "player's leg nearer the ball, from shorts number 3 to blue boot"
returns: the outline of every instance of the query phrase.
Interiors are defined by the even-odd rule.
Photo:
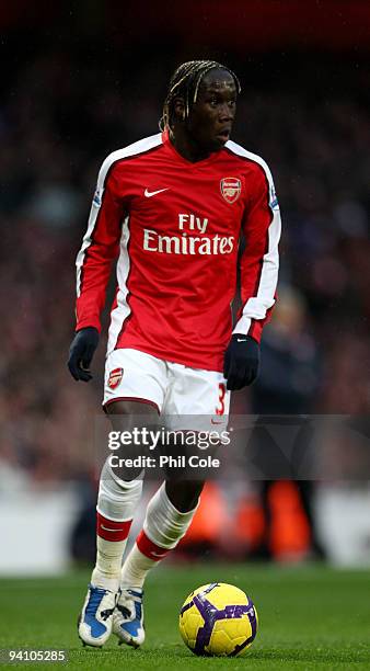
[[[172,385],[163,405],[164,421],[169,420],[169,416],[174,416],[177,421],[174,428],[186,430],[190,416],[217,413],[219,420],[223,416],[227,423],[230,395],[226,391],[226,380],[220,373],[193,371],[178,364],[167,366]],[[212,424],[209,429],[215,431]],[[200,480],[169,480],[149,502],[143,528],[122,570],[122,594],[114,615],[114,633],[123,642],[135,646],[142,642],[143,629],[136,611],[141,612],[146,577],[186,534],[203,485]]]

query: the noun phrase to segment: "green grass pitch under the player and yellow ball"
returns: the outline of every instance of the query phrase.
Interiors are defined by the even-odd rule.
[[[254,600],[257,637],[242,658],[197,658],[183,645],[178,610],[196,587],[231,582]],[[89,671],[339,670],[370,669],[370,581],[368,571],[321,566],[294,568],[233,564],[186,564],[155,569],[146,588],[147,641],[140,650],[116,638],[94,650],[82,648],[76,622],[88,573],[56,579],[0,580],[0,648],[67,649],[60,669]],[[50,668],[49,663],[18,666]]]

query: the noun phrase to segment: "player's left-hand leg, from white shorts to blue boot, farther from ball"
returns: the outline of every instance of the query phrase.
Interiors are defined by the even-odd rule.
[[[116,382],[117,378],[112,376],[112,367],[115,373],[117,369],[123,369],[117,368],[117,361],[123,363],[126,379],[125,384],[119,386],[119,398],[131,399],[132,396],[136,396],[138,400],[115,400],[113,390],[118,385],[115,384],[108,389],[106,386],[104,401],[115,430],[119,430],[120,420],[127,430],[127,422],[134,421],[129,418],[138,419],[142,416],[146,423],[148,416],[152,417],[153,421],[157,420],[162,402],[161,390],[154,387],[152,380],[148,383],[143,378],[142,359],[137,362],[141,353],[136,352],[134,357],[130,357],[125,352],[116,351],[111,364],[109,359],[107,360],[106,382],[112,378]],[[150,365],[149,362],[149,368]],[[147,399],[141,399],[142,389],[146,389]],[[118,396],[118,390],[116,394]],[[117,473],[111,467],[109,460],[106,462],[100,480],[96,507],[96,565],[79,619],[79,636],[86,645],[101,647],[112,633],[113,612],[119,590],[122,558],[141,489],[140,478],[131,479],[129,474],[126,476],[122,470]]]

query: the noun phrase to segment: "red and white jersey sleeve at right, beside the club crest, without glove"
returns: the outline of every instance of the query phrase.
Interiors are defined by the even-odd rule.
[[[252,196],[243,220],[242,308],[233,333],[251,336],[257,342],[276,299],[280,231],[280,211],[271,173],[266,163],[256,164]]]

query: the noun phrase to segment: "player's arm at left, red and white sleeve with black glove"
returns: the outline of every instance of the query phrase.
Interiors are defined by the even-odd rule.
[[[99,342],[101,311],[113,261],[118,255],[123,200],[119,196],[115,164],[104,161],[91,206],[88,230],[78,253],[76,331],[68,367],[74,379],[89,382],[89,366]]]

